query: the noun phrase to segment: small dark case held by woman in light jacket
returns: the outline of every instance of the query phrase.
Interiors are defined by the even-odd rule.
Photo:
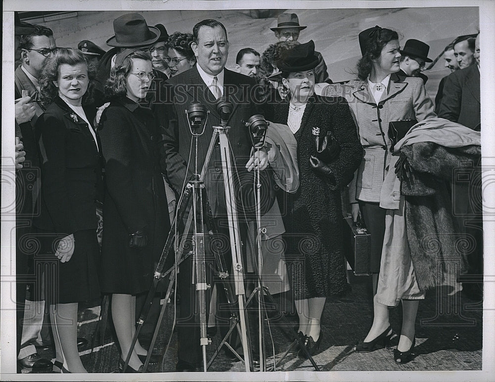
[[[371,275],[371,235],[363,223],[344,216],[344,254],[356,276]]]

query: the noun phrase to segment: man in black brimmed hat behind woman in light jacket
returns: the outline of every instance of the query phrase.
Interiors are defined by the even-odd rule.
[[[397,75],[404,77],[420,77],[426,84],[428,77],[421,73],[427,62],[433,62],[428,58],[430,46],[419,40],[410,39],[405,42],[400,50],[400,70]]]

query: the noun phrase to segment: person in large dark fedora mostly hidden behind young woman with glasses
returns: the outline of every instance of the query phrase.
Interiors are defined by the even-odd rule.
[[[127,48],[148,50],[160,38],[160,30],[148,26],[145,18],[139,13],[126,13],[117,17],[113,20],[113,30],[115,35],[106,41],[106,45],[113,48],[101,57],[95,78],[93,97],[96,106],[101,106],[106,102],[104,96],[105,82],[110,76],[111,68],[115,65],[117,54]],[[155,78],[160,77],[156,70],[153,70],[153,74]]]

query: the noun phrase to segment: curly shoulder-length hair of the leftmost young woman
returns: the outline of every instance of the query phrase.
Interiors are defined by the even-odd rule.
[[[45,65],[40,72],[39,78],[41,103],[47,107],[58,95],[58,88],[54,85],[54,82],[57,82],[59,74],[58,68],[62,64],[71,66],[77,64],[86,65],[88,68],[89,85],[88,90],[83,96],[82,102],[83,104],[91,103],[92,99],[90,94],[92,93],[91,88],[93,86],[93,79],[96,75],[95,68],[86,61],[84,54],[81,53],[80,50],[72,48],[56,48],[45,61]]]

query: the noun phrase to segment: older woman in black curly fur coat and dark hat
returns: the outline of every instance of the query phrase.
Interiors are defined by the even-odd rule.
[[[321,343],[320,319],[327,296],[347,288],[343,258],[341,187],[352,179],[362,146],[341,97],[314,95],[314,43],[298,45],[278,62],[290,97],[274,105],[273,122],[287,124],[297,141],[300,186],[285,196],[284,224],[299,336],[310,354]],[[271,78],[270,78],[271,79]],[[306,357],[303,349],[298,356]]]

